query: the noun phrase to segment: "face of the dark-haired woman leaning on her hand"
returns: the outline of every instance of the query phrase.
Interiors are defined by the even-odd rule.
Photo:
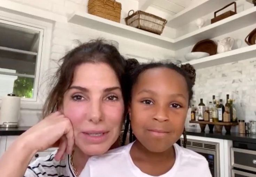
[[[124,114],[115,71],[105,63],[77,66],[62,109],[73,125],[75,145],[83,153],[106,152],[120,134]]]

